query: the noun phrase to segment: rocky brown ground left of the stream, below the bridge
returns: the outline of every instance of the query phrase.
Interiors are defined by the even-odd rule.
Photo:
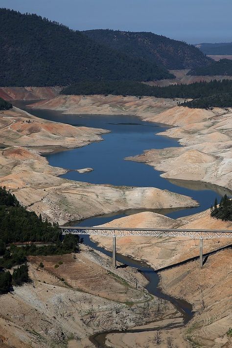
[[[94,332],[141,325],[153,318],[161,321],[162,312],[174,316],[172,305],[144,290],[146,280],[138,272],[112,268],[105,255],[85,246],[81,249],[75,258],[29,257],[32,283],[0,296],[2,344],[93,347],[88,337]]]

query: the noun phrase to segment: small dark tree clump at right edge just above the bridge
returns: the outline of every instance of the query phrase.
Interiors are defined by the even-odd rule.
[[[228,198],[225,194],[219,205],[217,199],[215,199],[214,206],[211,207],[210,215],[224,221],[232,221],[232,199]]]

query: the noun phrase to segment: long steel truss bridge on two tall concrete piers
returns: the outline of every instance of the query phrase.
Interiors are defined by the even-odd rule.
[[[232,230],[187,230],[187,229],[126,229],[108,227],[69,227],[61,226],[62,235],[101,235],[113,237],[113,266],[116,267],[116,237],[148,236],[148,237],[188,237],[200,240],[200,266],[203,266],[203,239],[232,238]]]

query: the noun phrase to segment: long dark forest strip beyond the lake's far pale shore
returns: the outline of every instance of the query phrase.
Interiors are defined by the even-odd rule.
[[[85,81],[65,88],[63,94],[113,94],[194,99],[182,103],[191,108],[230,107],[232,80],[195,82],[190,85],[153,87],[135,81]]]

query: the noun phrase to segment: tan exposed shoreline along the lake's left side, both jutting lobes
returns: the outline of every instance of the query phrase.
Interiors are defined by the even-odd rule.
[[[60,175],[69,168],[52,167],[40,155],[45,145],[47,151],[52,146],[62,148],[66,142],[72,148],[99,141],[98,134],[106,130],[50,122],[17,108],[4,112],[0,121],[1,141],[8,146],[0,152],[0,185],[11,189],[27,209],[42,213],[44,218],[64,224],[118,210],[198,206],[190,197],[154,187],[94,185],[63,179]]]

